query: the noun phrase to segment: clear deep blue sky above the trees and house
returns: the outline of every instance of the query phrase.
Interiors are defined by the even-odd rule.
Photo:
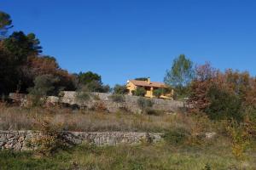
[[[44,54],[104,83],[162,81],[172,59],[256,75],[254,0],[0,0],[12,31],[34,32]]]

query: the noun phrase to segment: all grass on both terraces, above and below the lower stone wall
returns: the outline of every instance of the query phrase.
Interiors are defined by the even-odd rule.
[[[70,131],[165,132],[158,144],[96,147],[80,145],[61,150],[55,158],[35,158],[33,153],[0,152],[3,169],[255,169],[256,143],[247,148],[244,161],[232,155],[230,138],[222,135],[225,123],[211,122],[204,116],[110,114],[99,111],[73,111],[55,107],[21,109],[0,105],[0,129],[39,129],[37,120]],[[182,129],[182,131],[179,131]],[[184,132],[185,131],[185,132]],[[183,133],[184,132],[184,133]],[[199,133],[218,132],[216,138],[198,139]],[[189,133],[189,136],[183,136]],[[185,140],[183,140],[185,139]],[[183,142],[184,141],[184,142]]]

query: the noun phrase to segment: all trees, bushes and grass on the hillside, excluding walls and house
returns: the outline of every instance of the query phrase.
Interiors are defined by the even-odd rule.
[[[137,115],[128,111],[107,114],[102,101],[90,111],[64,105],[49,107],[44,105],[46,96],[58,95],[61,90],[76,90],[77,99],[85,102],[96,99],[91,92],[110,92],[111,88],[94,72],[70,74],[61,69],[54,57],[42,54],[40,41],[33,33],[10,33],[12,27],[9,14],[0,12],[0,130],[43,131],[45,139],[38,139],[38,144],[43,146],[44,156],[0,151],[1,169],[256,168],[256,78],[248,72],[219,71],[209,63],[194,65],[181,54],[166,71],[164,80],[175,89],[177,99],[185,99],[187,111],[166,115],[153,110],[152,100],[143,98],[145,88],[132,92],[141,96],[137,105],[142,114]],[[35,107],[10,104],[4,98],[10,92],[29,94]],[[156,97],[165,93],[161,88],[154,90]],[[116,85],[110,99],[122,103],[124,94],[125,86]],[[35,123],[46,116],[50,117],[46,128]],[[160,144],[116,148],[85,144],[56,151],[62,142],[57,138],[58,131],[53,130],[56,125],[61,125],[58,130],[71,131],[163,133],[164,140]],[[207,133],[212,132],[217,133],[216,137],[207,139]]]

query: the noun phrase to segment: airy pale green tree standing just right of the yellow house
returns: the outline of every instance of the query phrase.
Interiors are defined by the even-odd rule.
[[[177,93],[182,95],[184,88],[192,81],[194,77],[193,62],[187,59],[184,54],[174,59],[172,68],[166,71],[164,82],[174,88]]]

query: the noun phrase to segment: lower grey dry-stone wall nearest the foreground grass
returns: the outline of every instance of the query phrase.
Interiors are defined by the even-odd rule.
[[[42,135],[38,131],[0,131],[0,150],[33,150],[29,147],[32,139]],[[140,144],[156,143],[161,140],[161,133],[122,133],[122,132],[61,132],[63,139],[70,144]]]

